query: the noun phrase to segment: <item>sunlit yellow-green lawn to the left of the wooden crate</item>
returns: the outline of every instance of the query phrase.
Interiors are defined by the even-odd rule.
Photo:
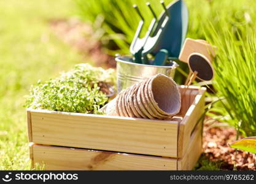
[[[48,26],[75,10],[72,0],[0,1],[0,170],[30,169],[23,107],[30,86],[82,61]]]

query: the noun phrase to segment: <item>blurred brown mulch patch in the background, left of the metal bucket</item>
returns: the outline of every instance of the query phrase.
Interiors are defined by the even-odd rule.
[[[107,55],[90,25],[82,23],[76,18],[69,20],[51,20],[53,33],[61,40],[76,48],[84,56],[89,56],[95,66],[115,67],[114,57]]]

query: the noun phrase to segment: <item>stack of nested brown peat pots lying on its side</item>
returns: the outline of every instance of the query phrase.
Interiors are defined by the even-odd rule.
[[[174,80],[157,74],[121,91],[108,105],[106,113],[120,117],[166,119],[179,112],[180,101]]]

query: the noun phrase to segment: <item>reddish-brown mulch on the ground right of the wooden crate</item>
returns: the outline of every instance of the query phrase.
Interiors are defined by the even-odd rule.
[[[210,161],[219,162],[220,169],[256,170],[256,155],[235,150],[228,144],[236,140],[234,128],[204,126],[203,151]]]

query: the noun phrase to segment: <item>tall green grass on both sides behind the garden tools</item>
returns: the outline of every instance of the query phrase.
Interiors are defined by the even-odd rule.
[[[139,16],[132,8],[138,4],[149,25],[152,13],[145,2],[148,0],[77,0],[80,15],[94,21],[104,17],[103,28],[120,50],[129,53],[129,45],[138,26]],[[149,0],[150,1],[150,0]],[[157,15],[162,11],[159,1],[150,1]],[[166,4],[171,0],[166,0]],[[187,37],[206,39],[216,45],[217,59],[214,62],[214,87],[224,100],[215,105],[222,120],[239,129],[244,136],[256,134],[256,1],[255,0],[194,0],[185,1],[189,12]],[[147,26],[144,28],[147,29]],[[145,31],[145,30],[144,30]],[[111,48],[111,47],[110,47]],[[179,63],[175,80],[184,82],[180,69],[188,71]],[[212,109],[213,110],[216,110]]]

